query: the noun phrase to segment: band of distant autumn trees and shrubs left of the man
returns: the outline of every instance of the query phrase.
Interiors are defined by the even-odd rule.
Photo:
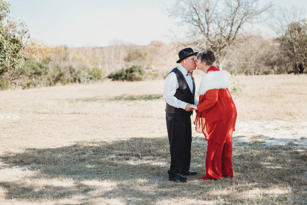
[[[128,81],[161,79],[170,68],[167,62],[172,62],[174,57],[166,55],[167,50],[170,48],[161,42],[152,42],[149,46],[69,48],[48,47],[36,39],[30,39],[24,45],[23,64],[19,69],[2,72],[0,87],[26,89],[89,83],[107,77]]]

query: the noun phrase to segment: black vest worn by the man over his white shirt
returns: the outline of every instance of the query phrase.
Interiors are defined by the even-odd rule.
[[[179,84],[179,87],[177,88],[174,96],[178,100],[181,100],[183,102],[190,103],[190,104],[194,105],[194,97],[195,97],[195,82],[194,82],[194,79],[193,79],[193,93],[191,93],[191,90],[188,86],[187,81],[185,80],[185,77],[178,70],[178,68],[174,68],[171,72],[174,72],[176,74],[178,84]],[[171,73],[171,72],[169,72],[169,73]],[[193,113],[193,111],[185,111],[182,108],[170,106],[168,103],[166,103],[165,111],[168,112],[168,113],[181,114],[181,115],[184,115],[184,116],[187,116],[187,117],[191,116],[191,114]]]

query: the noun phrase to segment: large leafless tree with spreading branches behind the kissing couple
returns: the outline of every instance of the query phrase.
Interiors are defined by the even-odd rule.
[[[260,6],[259,0],[176,0],[167,6],[167,13],[180,20],[178,25],[189,26],[192,44],[215,52],[216,64],[222,69],[242,26],[254,23],[271,7],[270,3]]]

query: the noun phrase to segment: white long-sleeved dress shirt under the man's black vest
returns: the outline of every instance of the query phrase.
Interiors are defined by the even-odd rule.
[[[187,81],[188,86],[189,86],[191,92],[193,93],[193,79],[192,79],[192,77],[190,75],[187,76],[188,71],[182,65],[178,66],[177,68],[183,74],[183,76],[185,76],[185,80]],[[163,90],[163,99],[170,106],[185,109],[185,106],[187,105],[187,103],[177,99],[174,96],[178,87],[179,87],[179,83],[178,83],[176,74],[174,72],[171,72],[165,78],[164,90]],[[194,105],[198,105],[198,100],[196,98],[194,99]]]

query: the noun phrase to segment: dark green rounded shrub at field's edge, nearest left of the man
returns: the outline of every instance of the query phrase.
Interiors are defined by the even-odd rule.
[[[140,65],[133,65],[126,70],[120,69],[118,72],[113,72],[107,76],[112,80],[127,80],[127,81],[141,81],[144,79],[145,71]]]

